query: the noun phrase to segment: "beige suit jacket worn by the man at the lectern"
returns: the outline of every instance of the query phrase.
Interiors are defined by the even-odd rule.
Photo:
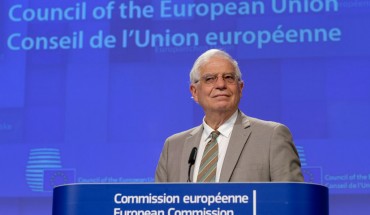
[[[187,181],[189,155],[193,147],[198,148],[202,132],[200,125],[166,140],[157,165],[156,182]],[[248,117],[239,111],[220,182],[267,181],[303,181],[292,135],[282,124]]]

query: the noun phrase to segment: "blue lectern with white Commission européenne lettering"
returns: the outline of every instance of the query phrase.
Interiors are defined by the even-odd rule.
[[[328,188],[310,183],[70,184],[53,215],[328,215]]]

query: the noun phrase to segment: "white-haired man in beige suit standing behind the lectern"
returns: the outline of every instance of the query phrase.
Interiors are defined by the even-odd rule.
[[[303,181],[289,129],[239,110],[241,76],[237,62],[224,51],[211,49],[198,57],[190,91],[204,110],[203,123],[166,140],[156,182]],[[198,153],[188,175],[194,147]]]

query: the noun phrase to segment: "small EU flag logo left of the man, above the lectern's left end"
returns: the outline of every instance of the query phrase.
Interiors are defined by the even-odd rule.
[[[75,182],[74,169],[44,170],[44,191],[52,191],[54,187]]]

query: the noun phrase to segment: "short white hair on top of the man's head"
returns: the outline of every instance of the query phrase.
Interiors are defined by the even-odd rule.
[[[190,71],[190,83],[194,84],[200,79],[200,68],[204,66],[211,58],[219,57],[228,60],[235,68],[236,76],[239,80],[242,80],[242,73],[240,72],[238,62],[234,60],[227,52],[220,49],[210,49],[201,54],[198,59],[194,62],[193,68]]]

